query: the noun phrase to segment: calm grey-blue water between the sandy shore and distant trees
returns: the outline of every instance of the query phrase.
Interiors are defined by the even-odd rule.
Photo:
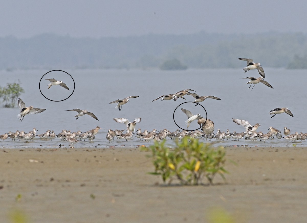
[[[52,69],[53,70],[53,69]],[[29,132],[33,127],[39,130],[38,134],[44,133],[47,129],[60,133],[62,129],[72,131],[81,130],[85,132],[94,129],[97,125],[105,130],[101,130],[95,138],[95,141],[79,142],[78,147],[97,146],[108,147],[110,145],[136,146],[151,145],[153,142],[138,141],[133,138],[129,142],[125,140],[115,140],[108,144],[106,139],[107,129],[125,129],[124,124],[116,123],[112,118],[125,117],[133,121],[135,117],[141,117],[142,121],[137,124],[137,128],[160,130],[167,128],[175,131],[178,127],[173,120],[173,114],[177,125],[185,128],[187,117],[180,110],[185,108],[192,113],[205,116],[206,113],[201,106],[195,107],[192,103],[183,102],[193,101],[192,96],[184,96],[186,100],[179,98],[173,101],[155,101],[162,94],[173,94],[183,89],[195,90],[197,94],[213,95],[222,100],[206,99],[200,104],[204,106],[208,118],[215,124],[215,133],[217,129],[231,132],[244,131],[243,126],[235,124],[231,118],[244,119],[254,125],[259,123],[262,127],[258,131],[268,132],[269,127],[273,126],[283,130],[285,126],[291,129],[291,133],[307,132],[305,111],[306,111],[306,70],[284,70],[265,68],[266,81],[274,89],[265,86],[262,83],[257,84],[252,91],[248,90],[249,85],[246,82],[249,79],[240,79],[244,77],[259,77],[257,70],[250,70],[243,73],[241,69],[225,70],[185,70],[185,71],[161,71],[161,70],[65,70],[71,77],[63,72],[52,72],[50,75],[43,75],[50,70],[14,70],[0,71],[1,86],[6,83],[20,80],[25,93],[20,97],[26,106],[33,105],[37,108],[47,108],[46,111],[39,114],[26,115],[22,122],[19,122],[17,115],[20,110],[0,108],[1,125],[0,134],[8,131],[24,130]],[[43,77],[43,78],[42,78]],[[42,78],[42,80],[41,80]],[[52,86],[47,91],[49,81],[46,78],[55,78],[62,80],[70,88],[70,91],[60,87]],[[40,82],[41,80],[41,82]],[[74,85],[75,83],[75,85]],[[40,92],[51,100],[63,100],[67,98],[74,90],[71,97],[61,102],[47,100]],[[130,102],[122,106],[122,110],[115,109],[116,104],[109,104],[116,99],[123,99],[131,95],[140,96],[131,98]],[[2,105],[0,105],[2,106]],[[174,113],[176,107],[179,106]],[[277,107],[288,107],[294,117],[286,113],[277,114],[271,118],[269,111]],[[75,111],[65,111],[71,109],[88,110],[94,113],[99,121],[88,115],[74,118]],[[198,128],[196,121],[192,122],[189,129]],[[212,140],[215,141],[215,140]],[[54,139],[52,141],[41,141],[24,143],[23,141],[12,141],[7,139],[0,142],[0,146],[9,148],[37,147],[43,145],[57,146],[63,144],[69,145],[66,141]],[[173,142],[168,138],[168,143]],[[251,141],[223,141],[217,145],[242,145],[249,146],[285,146],[289,141],[282,140],[277,142],[268,140],[264,142]],[[292,145],[290,143],[289,145]],[[299,143],[301,146],[307,145],[307,142]]]

